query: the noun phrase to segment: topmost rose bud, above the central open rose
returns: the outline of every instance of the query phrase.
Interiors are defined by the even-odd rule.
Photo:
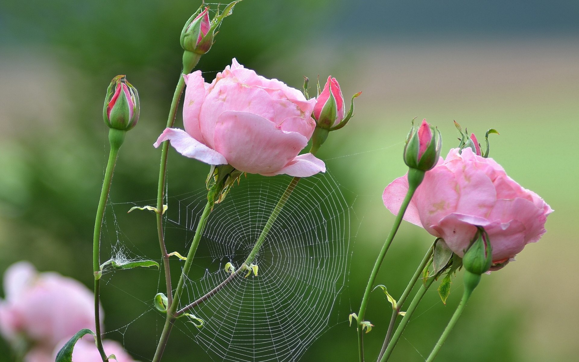
[[[185,27],[181,32],[181,47],[197,54],[207,53],[213,43],[213,35],[207,36],[210,29],[209,8],[205,8],[199,14],[194,14],[185,23]]]

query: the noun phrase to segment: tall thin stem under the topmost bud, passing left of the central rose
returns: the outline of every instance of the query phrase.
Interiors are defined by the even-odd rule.
[[[179,74],[179,81],[177,82],[177,87],[175,88],[175,93],[173,94],[173,100],[171,101],[171,108],[169,109],[169,116],[167,118],[167,128],[173,127],[175,123],[175,116],[177,115],[177,108],[179,106],[179,99],[181,99],[181,94],[185,88],[185,79],[183,79],[184,74],[188,74],[195,68],[197,62],[199,62],[201,56],[196,53],[191,53],[190,51],[185,51],[183,53],[183,68]],[[167,306],[170,306],[173,302],[173,289],[171,287],[171,269],[169,267],[169,255],[167,253],[167,247],[165,245],[164,233],[163,233],[163,197],[165,190],[165,182],[167,176],[167,154],[169,149],[169,143],[163,142],[161,146],[161,162],[159,167],[159,183],[157,184],[157,237],[159,238],[159,247],[161,249],[161,256],[163,257],[163,269],[165,273],[165,283],[167,285]]]

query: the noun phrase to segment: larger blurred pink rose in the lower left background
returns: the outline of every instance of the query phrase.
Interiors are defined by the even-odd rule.
[[[77,280],[38,273],[32,264],[20,261],[6,270],[4,290],[0,333],[8,341],[24,337],[52,352],[82,328],[94,331],[94,296]]]

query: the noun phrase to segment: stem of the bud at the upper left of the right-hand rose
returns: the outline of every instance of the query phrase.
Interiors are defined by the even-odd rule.
[[[360,304],[360,311],[358,312],[358,318],[357,318],[357,322],[358,322],[358,352],[359,352],[358,354],[359,354],[360,362],[364,362],[364,342],[362,339],[364,331],[362,329],[362,322],[364,322],[364,315],[366,313],[366,307],[368,304],[368,298],[370,296],[370,292],[372,291],[372,286],[374,285],[374,282],[376,280],[376,276],[378,276],[378,271],[380,270],[380,265],[382,265],[382,262],[384,261],[384,257],[386,256],[386,252],[390,248],[390,244],[394,240],[394,236],[396,235],[396,232],[398,231],[398,228],[400,227],[400,224],[402,223],[402,217],[404,217],[404,213],[406,212],[406,208],[408,208],[408,204],[410,203],[410,200],[412,199],[412,195],[414,195],[414,192],[416,191],[420,182],[422,182],[423,178],[424,178],[424,171],[419,171],[419,170],[413,169],[413,168],[409,169],[409,171],[408,171],[408,180],[409,180],[408,192],[406,193],[406,197],[404,198],[404,201],[402,201],[402,205],[400,205],[400,210],[398,210],[398,215],[396,215],[396,219],[394,220],[394,224],[390,230],[390,234],[388,235],[386,242],[384,242],[384,245],[382,246],[382,250],[380,250],[380,253],[378,254],[378,258],[376,259],[376,262],[374,263],[374,268],[372,269],[372,273],[370,274],[370,278],[368,279],[368,285],[366,286],[366,290],[364,291],[364,297],[362,298],[362,303]]]

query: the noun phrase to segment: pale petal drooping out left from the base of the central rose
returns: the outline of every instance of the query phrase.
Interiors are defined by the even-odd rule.
[[[210,149],[203,143],[197,141],[187,132],[178,128],[166,128],[157,139],[154,146],[159,147],[161,142],[171,142],[171,146],[185,157],[195,158],[210,165],[223,165],[228,163],[225,157],[219,152]]]

